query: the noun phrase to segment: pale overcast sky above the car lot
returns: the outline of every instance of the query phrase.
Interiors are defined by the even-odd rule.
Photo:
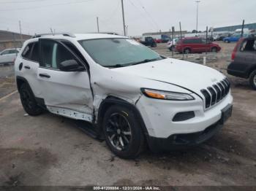
[[[256,0],[200,0],[198,30],[208,27],[256,23]],[[196,28],[197,3],[193,0],[124,0],[129,36],[146,32]],[[0,0],[0,30],[23,34],[114,31],[123,34],[121,0]]]

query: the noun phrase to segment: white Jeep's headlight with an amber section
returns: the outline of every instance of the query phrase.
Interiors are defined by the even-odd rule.
[[[187,101],[187,100],[195,99],[192,95],[189,95],[187,93],[167,92],[167,91],[152,90],[147,88],[141,88],[141,91],[148,98],[176,100],[176,101]]]

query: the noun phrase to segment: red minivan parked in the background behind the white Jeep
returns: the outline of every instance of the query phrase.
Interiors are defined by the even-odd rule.
[[[202,53],[202,52],[219,52],[222,48],[218,44],[206,42],[206,39],[199,37],[189,37],[180,39],[176,42],[176,52]]]

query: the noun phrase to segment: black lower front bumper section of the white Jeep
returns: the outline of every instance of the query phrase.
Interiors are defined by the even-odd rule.
[[[223,125],[221,122],[216,122],[203,131],[186,134],[173,134],[167,138],[157,138],[148,136],[148,147],[153,152],[173,151],[180,149],[188,149],[197,144],[201,144],[214,136]]]

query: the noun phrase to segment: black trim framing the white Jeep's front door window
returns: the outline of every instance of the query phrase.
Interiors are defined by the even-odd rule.
[[[89,73],[88,63],[86,64],[86,63],[84,63],[84,61],[81,61],[81,59],[78,57],[78,55],[76,55],[72,50],[69,49],[69,47],[67,47],[66,44],[63,43],[63,41],[69,42],[68,40],[65,40],[65,39],[48,39],[48,38],[47,39],[46,38],[43,39],[42,38],[42,39],[38,40],[38,43],[39,43],[39,68],[50,69],[50,70],[55,70],[55,71],[61,71],[60,69],[53,69],[52,67],[42,66],[42,44],[41,44],[42,40],[56,42],[57,44],[61,44],[64,48],[66,48],[75,57],[75,60],[78,61],[78,63],[80,63],[81,66],[84,66],[84,71],[87,71]],[[73,44],[72,42],[69,42],[69,43]],[[86,61],[86,58],[84,58],[84,59]],[[89,76],[90,76],[90,74],[89,74]]]

